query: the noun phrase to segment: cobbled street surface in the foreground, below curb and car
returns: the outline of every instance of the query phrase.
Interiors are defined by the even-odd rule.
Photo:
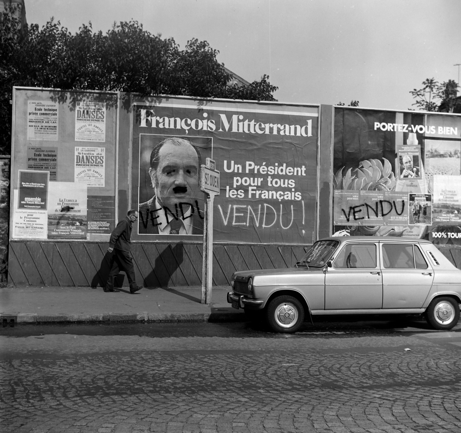
[[[0,430],[459,433],[460,354],[422,321],[6,327]]]

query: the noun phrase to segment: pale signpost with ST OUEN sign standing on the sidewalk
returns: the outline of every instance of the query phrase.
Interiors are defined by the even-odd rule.
[[[206,165],[201,165],[200,190],[205,192],[205,224],[203,227],[203,262],[201,303],[211,303],[213,285],[213,200],[219,195],[220,173],[215,169],[216,163],[207,158]]]

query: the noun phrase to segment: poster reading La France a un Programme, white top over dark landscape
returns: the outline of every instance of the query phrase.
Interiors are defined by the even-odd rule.
[[[87,186],[54,182],[48,199],[48,239],[86,239]]]

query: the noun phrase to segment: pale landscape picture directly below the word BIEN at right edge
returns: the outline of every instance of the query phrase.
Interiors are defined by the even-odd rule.
[[[461,141],[426,139],[425,174],[429,180],[435,174],[461,174]]]

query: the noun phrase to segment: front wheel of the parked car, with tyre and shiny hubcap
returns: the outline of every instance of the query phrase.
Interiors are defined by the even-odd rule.
[[[296,332],[304,321],[304,308],[294,296],[277,296],[267,306],[266,318],[272,331]]]

